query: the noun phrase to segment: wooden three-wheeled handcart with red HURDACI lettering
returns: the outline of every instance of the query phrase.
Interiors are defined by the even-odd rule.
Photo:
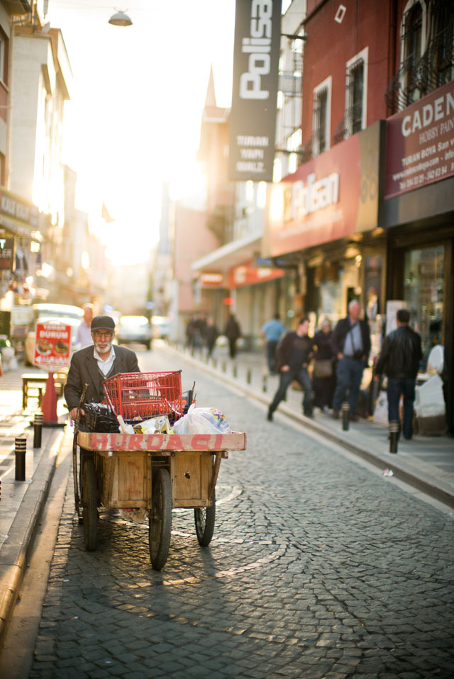
[[[84,541],[96,549],[98,509],[148,511],[150,561],[167,561],[172,508],[194,508],[199,544],[214,532],[216,479],[229,450],[244,450],[246,434],[96,434],[79,432]]]

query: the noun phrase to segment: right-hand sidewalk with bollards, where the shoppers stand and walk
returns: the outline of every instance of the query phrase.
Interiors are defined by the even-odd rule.
[[[167,351],[182,354],[188,361],[194,361],[201,369],[219,376],[243,393],[268,406],[277,389],[279,377],[270,376],[262,354],[238,352],[232,361],[227,350],[216,347],[214,358],[206,359],[206,352],[189,352],[175,345],[167,345]],[[414,488],[432,498],[454,507],[454,439],[448,436],[421,436],[416,434],[411,441],[399,440],[397,454],[389,453],[388,427],[372,420],[361,419],[350,422],[348,431],[343,431],[342,421],[333,420],[330,415],[315,409],[314,418],[301,414],[301,392],[289,388],[287,400],[279,405],[275,413],[284,413],[308,429],[321,434],[362,459],[385,469]],[[263,421],[266,422],[266,411]],[[272,426],[272,424],[268,425]]]

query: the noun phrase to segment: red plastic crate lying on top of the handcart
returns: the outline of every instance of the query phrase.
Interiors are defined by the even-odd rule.
[[[169,415],[170,421],[181,417],[181,370],[161,373],[121,373],[102,383],[107,403],[123,420],[148,420]]]

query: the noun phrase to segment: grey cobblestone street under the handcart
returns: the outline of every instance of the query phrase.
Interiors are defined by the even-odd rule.
[[[182,368],[196,405],[248,434],[221,464],[214,539],[174,510],[156,572],[148,523],[104,515],[89,553],[70,479],[31,678],[451,677],[449,513]]]

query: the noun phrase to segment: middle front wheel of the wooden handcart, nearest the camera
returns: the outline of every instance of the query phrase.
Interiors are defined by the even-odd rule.
[[[155,571],[160,571],[167,561],[172,529],[172,483],[167,469],[153,473],[151,510],[148,519],[150,561]]]

